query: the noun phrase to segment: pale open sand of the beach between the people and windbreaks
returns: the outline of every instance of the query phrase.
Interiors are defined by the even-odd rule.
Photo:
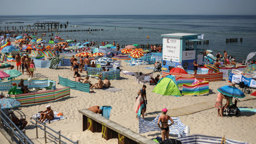
[[[15,63],[11,63],[15,65]],[[122,70],[137,72],[138,67],[131,67],[126,65],[122,61],[123,67]],[[142,73],[151,73],[152,70],[144,69],[143,67],[153,67],[153,65],[140,65],[139,71]],[[16,69],[16,67],[15,67]],[[1,69],[5,70],[5,69]],[[159,73],[154,73],[154,77]],[[47,68],[36,68],[34,72],[34,78],[49,78],[55,80],[57,83],[58,75],[61,77],[67,77],[68,79],[75,80],[73,78],[73,71],[70,70],[70,67],[59,67],[59,69],[47,69]],[[85,77],[85,72],[81,73],[82,78]],[[142,84],[135,82],[134,76],[124,75],[121,73],[120,79],[111,80],[111,86],[122,89],[115,93],[110,91],[105,91],[101,89],[94,89],[95,93],[85,93],[82,91],[77,91],[71,89],[71,97],[61,101],[56,101],[53,103],[43,103],[40,105],[33,105],[27,107],[19,107],[15,110],[15,114],[21,118],[25,116],[27,121],[29,121],[32,115],[36,114],[38,111],[45,110],[45,106],[50,104],[54,111],[63,113],[67,119],[61,121],[55,121],[51,124],[47,124],[49,127],[55,131],[61,130],[61,134],[65,135],[73,141],[79,140],[79,143],[117,143],[117,139],[110,139],[106,141],[101,138],[101,133],[92,133],[91,131],[82,131],[82,115],[79,113],[79,109],[87,109],[88,107],[94,105],[109,105],[112,107],[110,120],[119,123],[124,127],[139,132],[139,122],[135,118],[135,111],[133,107],[135,104],[135,97],[137,91],[142,87]],[[27,79],[28,75],[21,75],[16,79]],[[90,78],[92,83],[96,83],[97,79]],[[171,109],[185,107],[193,105],[196,103],[201,103],[205,101],[213,101],[215,104],[215,99],[217,98],[217,88],[228,85],[228,80],[223,79],[223,81],[216,81],[209,83],[209,95],[200,95],[200,96],[182,96],[182,97],[173,97],[173,96],[162,96],[157,93],[153,93],[152,90],[155,85],[147,85],[147,115],[145,119],[152,120],[157,115],[161,114],[161,109],[167,108],[169,111]],[[63,86],[57,85],[57,88]],[[255,91],[255,90],[253,90]],[[246,95],[246,97],[249,97]],[[223,101],[225,103],[225,100]],[[251,107],[256,109],[256,99],[250,99],[248,101],[241,101],[238,103],[238,107]],[[20,114],[19,114],[20,113]],[[168,113],[167,113],[168,114]],[[233,139],[237,141],[244,141],[248,143],[256,143],[254,139],[255,128],[256,128],[256,115],[255,113],[241,113],[240,117],[217,117],[217,109],[212,108],[205,111],[200,111],[198,113],[193,113],[191,115],[184,115],[179,117],[185,125],[190,127],[190,135],[193,134],[202,134],[202,135],[211,135],[217,137],[225,136],[228,139]],[[28,123],[26,127],[26,134],[35,142],[35,143],[44,143],[43,131],[39,130],[39,139],[35,139],[35,127],[32,123]],[[157,136],[161,137],[159,131],[152,131],[149,133],[142,134],[145,137],[153,139]],[[48,142],[52,142],[52,138],[48,137]]]

